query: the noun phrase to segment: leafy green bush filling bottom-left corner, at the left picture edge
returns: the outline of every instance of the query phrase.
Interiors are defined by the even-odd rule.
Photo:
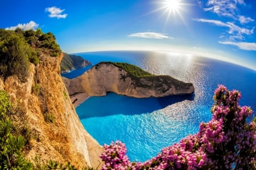
[[[32,164],[23,158],[22,148],[26,143],[9,119],[12,104],[5,91],[0,91],[0,169],[32,169]]]

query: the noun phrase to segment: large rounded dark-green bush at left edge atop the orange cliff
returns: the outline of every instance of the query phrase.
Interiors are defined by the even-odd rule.
[[[38,64],[39,58],[20,30],[0,29],[0,76],[17,75],[21,82],[26,82],[30,62]]]

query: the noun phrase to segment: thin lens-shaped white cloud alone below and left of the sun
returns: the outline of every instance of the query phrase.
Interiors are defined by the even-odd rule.
[[[158,32],[138,32],[128,35],[129,37],[140,37],[144,39],[174,39],[173,37],[167,36],[165,33]]]

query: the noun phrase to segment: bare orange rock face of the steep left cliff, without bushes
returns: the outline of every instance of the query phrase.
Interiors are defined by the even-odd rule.
[[[18,101],[28,116],[28,125],[34,131],[26,157],[32,162],[35,156],[48,162],[71,162],[76,167],[98,167],[102,147],[84,129],[75,112],[68,91],[60,76],[63,57],[40,56],[40,63],[30,65],[27,82],[20,83],[15,76],[0,80],[0,90],[5,90],[12,101]],[[38,84],[39,93],[33,92]],[[45,120],[46,114],[54,122]]]

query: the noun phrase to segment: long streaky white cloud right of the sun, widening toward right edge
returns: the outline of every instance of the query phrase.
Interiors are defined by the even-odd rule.
[[[203,22],[203,23],[211,23],[211,24],[214,24],[214,25],[217,25],[219,27],[226,27],[226,28],[229,28],[228,29],[228,33],[229,33],[229,38],[230,39],[244,39],[245,37],[243,35],[252,35],[254,33],[254,28],[251,28],[251,29],[247,29],[247,28],[242,28],[242,27],[239,27],[238,25],[234,24],[233,22],[222,22],[220,20],[213,20],[213,19],[192,19],[192,20],[195,20],[197,22]],[[223,36],[222,36],[223,37]]]

